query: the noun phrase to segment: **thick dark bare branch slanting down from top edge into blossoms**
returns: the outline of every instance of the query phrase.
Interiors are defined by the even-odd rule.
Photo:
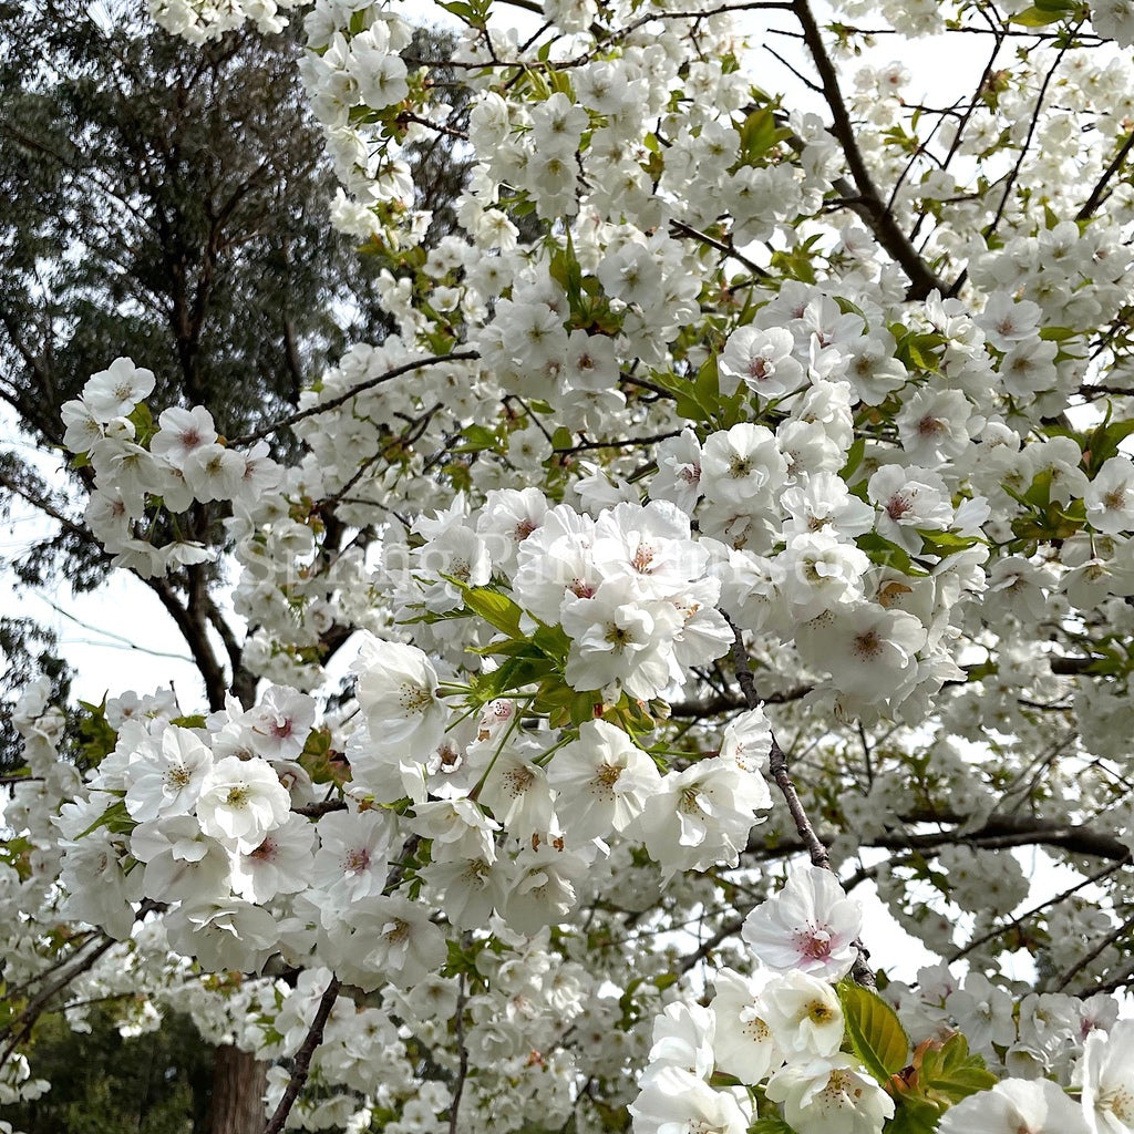
[[[946,285],[930,271],[925,262],[917,255],[917,249],[909,243],[909,238],[902,230],[894,213],[886,208],[881,194],[874,186],[862,151],[858,149],[858,139],[855,137],[850,115],[843,101],[838,74],[827,53],[827,48],[823,45],[822,32],[819,24],[815,23],[807,0],[795,0],[792,8],[803,27],[803,37],[815,64],[815,70],[819,73],[823,98],[831,111],[831,130],[843,149],[850,176],[858,189],[857,195],[844,193],[844,196],[852,198],[850,208],[862,217],[874,236],[878,237],[879,244],[894,256],[909,278],[907,299],[924,299],[930,291],[945,291]],[[836,187],[838,188],[838,186]],[[844,191],[839,188],[839,192]]]

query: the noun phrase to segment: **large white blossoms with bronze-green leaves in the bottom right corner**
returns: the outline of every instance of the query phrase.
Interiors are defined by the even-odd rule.
[[[917,1128],[947,1134],[1131,1127],[1134,1021],[1117,1019],[1112,997],[1032,992],[1017,1006],[982,974],[959,982],[941,965],[883,1000],[845,980],[861,925],[830,872],[789,874],[744,921],[754,971],[722,967],[708,1006],[675,1001],[655,1019],[635,1132],[745,1134],[782,1116],[797,1134],[879,1134],[899,1106],[921,1106]],[[951,1067],[931,1063],[950,1046]],[[933,1090],[954,1105],[931,1102]]]

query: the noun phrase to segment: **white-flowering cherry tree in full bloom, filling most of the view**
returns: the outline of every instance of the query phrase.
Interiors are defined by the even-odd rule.
[[[84,522],[261,683],[87,706],[79,762],[28,691],[0,1092],[135,980],[276,1060],[269,1132],[1134,1129],[1134,6],[439,7],[467,130],[400,9],[298,14],[397,333],[252,435],[145,359],[66,407]],[[976,90],[855,68],[928,34]]]

